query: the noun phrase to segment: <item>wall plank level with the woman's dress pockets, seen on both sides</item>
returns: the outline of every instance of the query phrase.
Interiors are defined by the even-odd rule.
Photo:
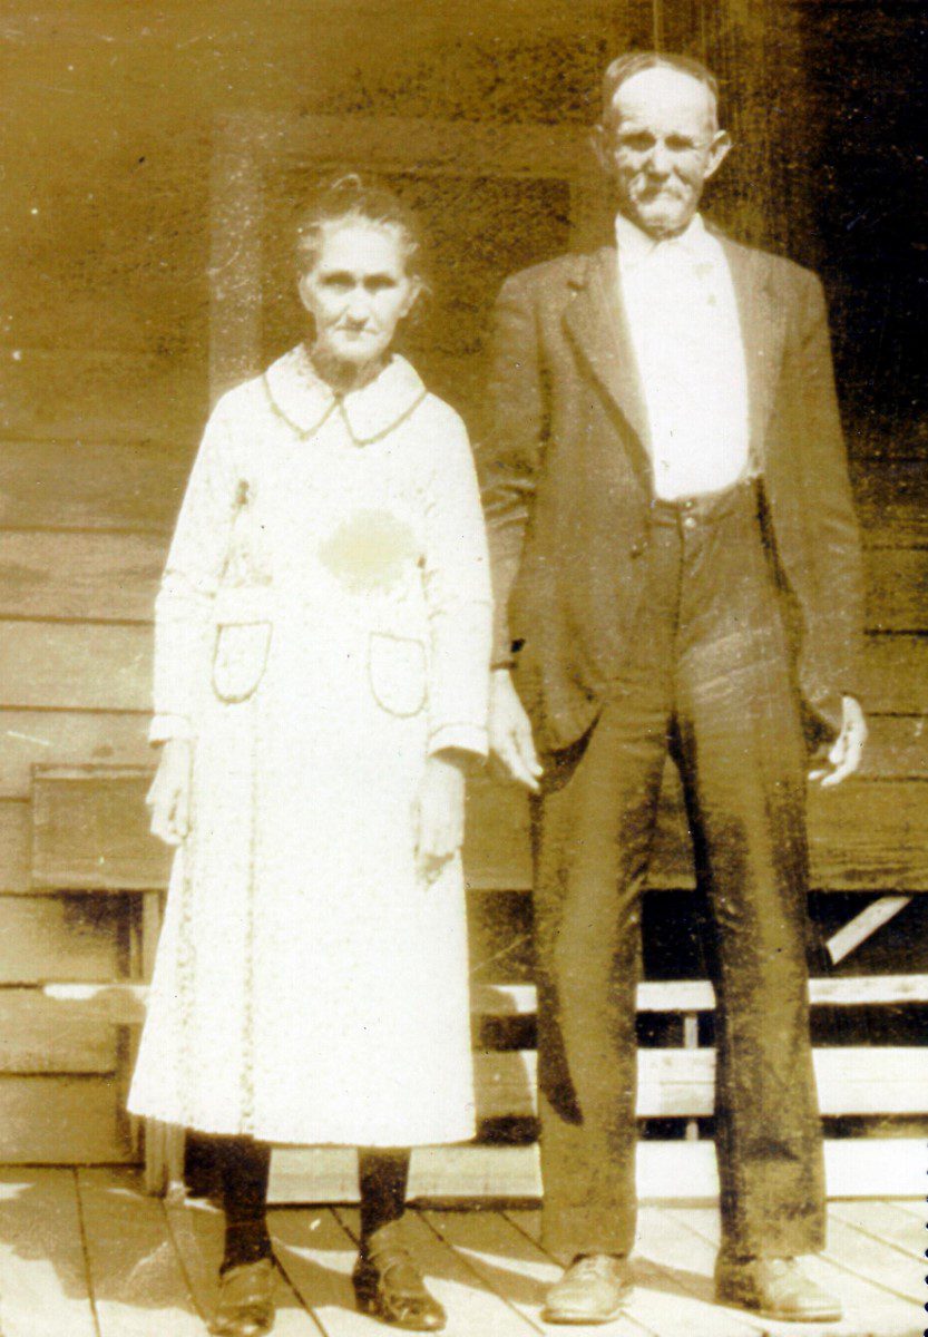
[[[928,709],[928,638],[868,638],[864,701],[876,714]],[[148,710],[151,628],[1,622],[0,706]]]

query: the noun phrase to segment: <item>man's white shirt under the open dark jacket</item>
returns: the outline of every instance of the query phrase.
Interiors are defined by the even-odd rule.
[[[747,373],[725,251],[697,214],[654,241],[615,221],[620,298],[650,427],[659,497],[718,492],[747,473]]]

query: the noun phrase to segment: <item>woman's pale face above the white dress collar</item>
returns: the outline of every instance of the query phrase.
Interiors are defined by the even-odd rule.
[[[300,297],[316,325],[313,350],[357,368],[377,361],[417,294],[394,227],[329,223],[314,267],[300,281]]]

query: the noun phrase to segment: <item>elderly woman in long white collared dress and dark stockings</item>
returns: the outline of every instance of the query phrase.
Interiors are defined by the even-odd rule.
[[[460,845],[489,590],[457,414],[390,352],[382,187],[300,233],[304,344],[217,405],[156,602],[152,830],[178,846],[130,1108],[221,1135],[213,1332],[273,1324],[269,1143],[361,1148],[358,1306],[437,1330],[408,1148],[473,1135]]]

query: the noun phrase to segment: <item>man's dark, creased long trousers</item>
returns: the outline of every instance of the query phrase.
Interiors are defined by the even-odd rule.
[[[566,1259],[632,1247],[641,892],[670,754],[709,909],[722,1247],[812,1253],[805,750],[757,489],[651,515],[627,664],[535,802],[544,1239]]]

